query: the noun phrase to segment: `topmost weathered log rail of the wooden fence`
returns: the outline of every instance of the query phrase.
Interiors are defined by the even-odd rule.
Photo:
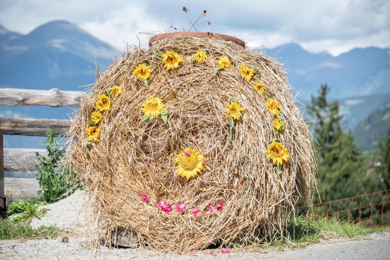
[[[78,107],[89,95],[82,91],[0,88],[0,106]]]

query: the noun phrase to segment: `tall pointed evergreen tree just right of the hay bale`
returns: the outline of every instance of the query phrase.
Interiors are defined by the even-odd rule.
[[[362,150],[356,147],[352,134],[344,133],[340,126],[338,101],[329,103],[326,98],[329,91],[326,84],[321,85],[319,96],[312,96],[307,107],[314,120],[320,198],[328,201],[376,191],[377,181],[365,173]],[[319,198],[314,200],[319,202]]]

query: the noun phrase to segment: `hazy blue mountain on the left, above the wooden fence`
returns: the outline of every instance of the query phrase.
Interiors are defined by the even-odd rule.
[[[93,83],[119,51],[66,21],[46,23],[27,35],[1,29],[2,87],[75,90]],[[58,85],[59,84],[59,85]],[[37,85],[39,87],[37,87]]]

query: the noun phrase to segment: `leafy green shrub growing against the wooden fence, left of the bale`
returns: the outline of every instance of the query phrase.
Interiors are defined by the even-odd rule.
[[[36,166],[38,173],[35,177],[43,189],[38,193],[43,195],[45,202],[53,203],[65,193],[72,194],[80,186],[80,182],[75,179],[74,168],[59,166],[60,161],[64,158],[65,150],[56,149],[60,143],[54,138],[53,129],[48,129],[46,135],[48,139],[44,144],[47,145],[48,157],[36,154],[39,164]]]

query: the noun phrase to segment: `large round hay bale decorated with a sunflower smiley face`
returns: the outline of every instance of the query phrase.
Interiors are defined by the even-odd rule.
[[[199,49],[207,53],[201,63],[193,61]],[[179,67],[164,68],[158,55],[167,51],[181,55]],[[231,66],[215,76],[221,55],[229,57]],[[151,66],[147,87],[133,76],[142,63]],[[239,74],[243,63],[255,72],[249,81]],[[296,201],[310,199],[316,186],[312,136],[285,74],[264,53],[223,39],[176,36],[148,50],[125,52],[98,75],[68,133],[67,163],[76,167],[91,197],[94,234],[127,228],[137,233],[141,246],[158,250],[203,249],[280,235]],[[264,93],[254,88],[257,82]],[[113,86],[122,94],[110,97]],[[99,101],[103,94],[110,98],[109,110]],[[141,111],[150,95],[167,108],[166,124],[163,110],[155,118]],[[275,115],[266,108],[271,98],[280,105]],[[227,105],[235,100],[245,108],[241,119],[227,116]],[[161,102],[153,103],[153,109]],[[87,135],[85,129],[95,123],[92,113],[102,106],[99,133],[87,130]],[[278,113],[285,129],[275,135]],[[89,136],[92,141],[85,141]],[[280,167],[268,158],[275,138],[289,153],[281,157]]]

